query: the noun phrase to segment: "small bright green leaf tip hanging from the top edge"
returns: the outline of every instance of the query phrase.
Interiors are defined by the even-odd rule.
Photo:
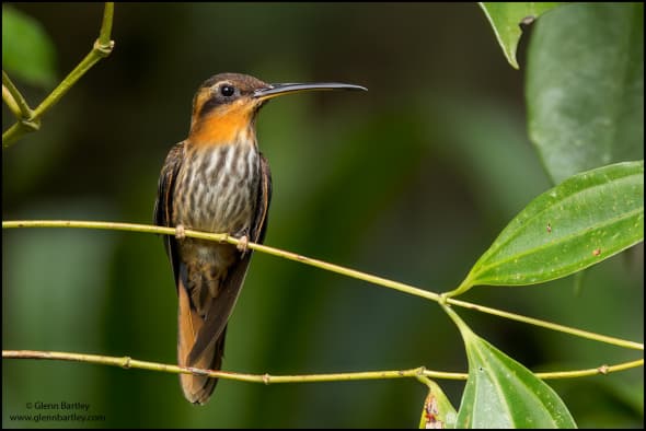
[[[524,21],[533,21],[543,12],[554,8],[558,3],[480,3],[485,15],[489,20],[498,44],[507,57],[509,65],[518,69],[516,49],[522,35],[520,24]]]

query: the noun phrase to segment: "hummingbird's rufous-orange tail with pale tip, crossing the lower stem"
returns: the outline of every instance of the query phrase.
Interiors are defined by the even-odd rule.
[[[224,353],[227,328],[224,327],[220,337],[204,350],[197,361],[188,363],[188,356],[195,345],[197,334],[199,334],[204,325],[204,321],[195,310],[191,310],[188,292],[181,282],[177,287],[177,294],[180,299],[177,325],[177,361],[180,365],[204,370],[220,370],[222,354]],[[180,383],[186,399],[193,404],[204,405],[214,393],[218,380],[201,375],[180,374]]]

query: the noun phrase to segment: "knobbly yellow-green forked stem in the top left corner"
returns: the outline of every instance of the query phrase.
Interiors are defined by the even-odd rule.
[[[88,72],[99,60],[107,57],[114,48],[114,42],[109,39],[112,33],[112,22],[114,16],[114,2],[105,3],[103,12],[103,21],[101,30],[99,32],[99,38],[92,46],[90,53],[81,60],[81,62],[58,84],[56,89],[32,112],[25,116],[24,110],[21,108],[23,114],[21,120],[10,127],[5,132],[2,133],[2,148],[8,148],[25,133],[30,131],[38,130],[41,126],[41,117],[79,81],[79,79]],[[4,83],[5,73],[2,72],[2,83]],[[9,78],[8,78],[9,79]],[[10,90],[8,88],[8,90]],[[10,90],[11,91],[11,90]],[[16,90],[18,92],[18,90]],[[20,94],[18,92],[18,94]],[[16,95],[12,93],[14,98]],[[21,96],[22,97],[22,96]],[[24,100],[23,100],[24,102]],[[16,98],[16,103],[20,105],[20,100]],[[25,102],[26,106],[26,102]],[[28,108],[28,106],[27,106]]]

